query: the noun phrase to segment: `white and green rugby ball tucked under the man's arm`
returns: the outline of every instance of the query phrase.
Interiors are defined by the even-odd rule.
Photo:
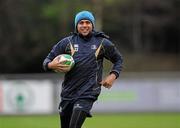
[[[61,54],[58,55],[56,58],[58,58],[59,63],[68,65],[67,72],[70,71],[75,64],[73,57],[69,54]]]

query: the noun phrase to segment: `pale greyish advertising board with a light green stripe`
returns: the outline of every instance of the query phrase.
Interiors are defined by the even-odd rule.
[[[180,111],[180,79],[121,79],[102,88],[96,112]]]

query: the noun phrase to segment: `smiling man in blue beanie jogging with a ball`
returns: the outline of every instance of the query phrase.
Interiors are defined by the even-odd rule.
[[[70,54],[74,67],[54,59],[60,54]],[[103,59],[112,62],[109,75],[102,79]],[[95,18],[89,11],[75,16],[75,32],[54,45],[43,62],[45,70],[65,72],[62,83],[60,120],[61,128],[81,128],[97,100],[101,87],[111,88],[122,70],[122,57],[109,37],[95,31]]]

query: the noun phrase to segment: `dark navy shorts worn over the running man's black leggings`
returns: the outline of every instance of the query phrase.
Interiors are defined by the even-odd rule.
[[[72,114],[73,110],[81,110],[87,113],[87,117],[92,117],[90,110],[92,109],[94,100],[78,99],[75,101],[64,100],[59,105],[60,115]]]

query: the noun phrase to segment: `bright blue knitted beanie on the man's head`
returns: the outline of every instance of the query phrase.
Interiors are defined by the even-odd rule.
[[[93,28],[95,27],[95,18],[93,16],[93,14],[89,11],[81,11],[81,12],[77,13],[76,17],[75,17],[75,30],[77,28],[77,24],[81,20],[89,20],[92,23]]]

